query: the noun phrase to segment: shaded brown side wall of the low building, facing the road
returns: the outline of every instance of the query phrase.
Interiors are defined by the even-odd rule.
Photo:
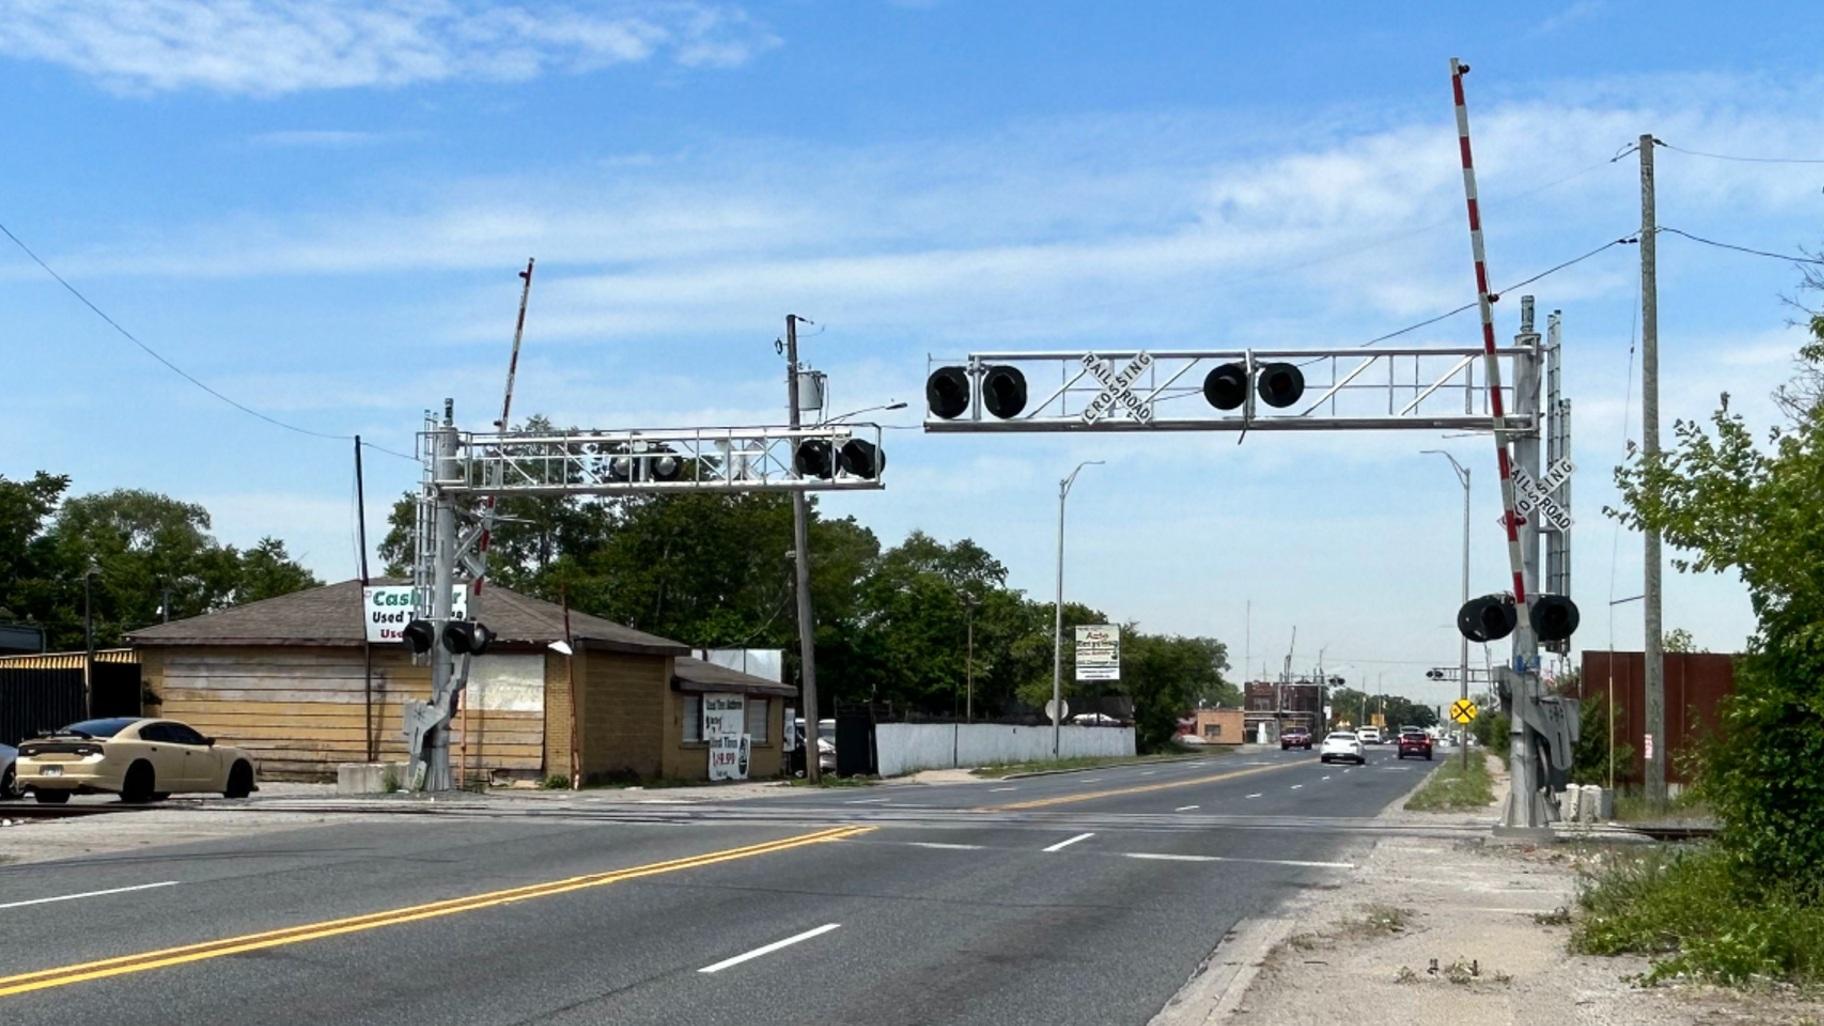
[[[660,776],[671,657],[589,652],[576,674],[584,681],[584,776]]]

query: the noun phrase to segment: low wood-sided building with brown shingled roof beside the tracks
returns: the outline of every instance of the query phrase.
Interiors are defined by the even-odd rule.
[[[403,759],[403,703],[430,697],[430,666],[401,643],[368,641],[372,597],[343,581],[131,633],[146,714],[255,752],[272,778]],[[711,736],[730,728],[748,739],[735,776],[781,772],[797,688],[576,610],[567,646],[554,644],[560,606],[492,584],[469,613],[496,639],[472,661],[452,723],[460,778],[533,783],[575,767],[584,780],[710,780]]]

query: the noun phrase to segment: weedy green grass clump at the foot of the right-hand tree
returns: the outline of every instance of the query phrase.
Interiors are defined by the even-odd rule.
[[[1570,947],[1647,955],[1647,984],[1824,984],[1824,895],[1746,885],[1715,845],[1616,853],[1585,880],[1578,906]]]

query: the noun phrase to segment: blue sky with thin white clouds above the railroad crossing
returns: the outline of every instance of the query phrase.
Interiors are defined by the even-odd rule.
[[[1609,157],[1642,131],[1824,157],[1824,77],[1793,44],[1824,9],[1713,11],[0,0],[0,221],[213,387],[401,451],[443,396],[491,420],[527,256],[518,411],[777,422],[786,312],[817,321],[806,358],[837,409],[916,407],[928,352],[1346,345],[1472,299],[1452,55],[1474,66],[1498,283],[1632,232],[1634,161]],[[1819,243],[1824,168],[1658,157],[1662,225]],[[1565,312],[1592,648],[1640,644],[1638,604],[1609,615],[1638,593],[1640,542],[1601,515],[1638,436],[1634,259],[1530,288]],[[1660,261],[1667,427],[1722,391],[1769,424],[1795,268],[1676,237]],[[274,533],[354,573],[347,444],[199,393],[16,250],[0,301],[0,473],[201,500],[223,540]],[[1474,343],[1476,321],[1410,338]],[[974,537],[1049,595],[1056,478],[1105,458],[1073,493],[1071,597],[1257,668],[1297,624],[1295,663],[1322,646],[1352,679],[1430,694],[1423,668],[1456,659],[1459,491],[1417,455],[1439,444],[1477,473],[1474,586],[1498,590],[1485,440],[894,431],[888,489],[828,508],[886,542]],[[370,533],[414,475],[368,460]],[[1669,573],[1665,619],[1715,650],[1751,630],[1731,579]]]

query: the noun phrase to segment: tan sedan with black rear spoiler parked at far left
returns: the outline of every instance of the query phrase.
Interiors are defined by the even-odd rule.
[[[119,794],[151,801],[181,792],[246,798],[255,785],[254,756],[217,745],[175,719],[117,716],[84,719],[20,745],[16,781],[46,805],[71,794]]]

